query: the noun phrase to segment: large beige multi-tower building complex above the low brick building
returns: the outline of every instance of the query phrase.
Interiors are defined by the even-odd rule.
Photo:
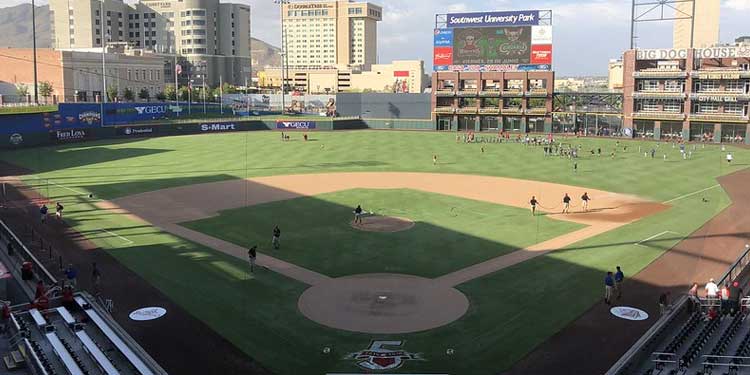
[[[127,42],[163,55],[164,78],[174,82],[174,54],[180,84],[244,85],[251,74],[250,7],[219,0],[50,0],[53,44],[58,49],[101,48]],[[102,24],[104,23],[104,24]],[[104,36],[102,34],[104,26]]]

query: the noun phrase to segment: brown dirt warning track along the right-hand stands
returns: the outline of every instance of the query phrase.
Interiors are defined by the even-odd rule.
[[[720,278],[750,241],[748,181],[750,169],[719,178],[732,205],[637,275],[628,278],[626,274],[624,296],[618,304],[658,317],[657,300],[664,291],[671,291],[677,298],[692,282],[702,287],[709,278]],[[689,199],[699,204],[701,196]],[[609,306],[597,304],[516,363],[506,375],[603,374],[655,321],[617,319],[609,313]]]

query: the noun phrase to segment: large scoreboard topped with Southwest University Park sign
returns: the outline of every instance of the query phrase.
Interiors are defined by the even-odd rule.
[[[434,70],[551,70],[550,23],[539,10],[447,14],[434,30]]]

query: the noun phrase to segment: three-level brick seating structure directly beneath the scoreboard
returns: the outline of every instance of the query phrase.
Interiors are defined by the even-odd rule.
[[[550,132],[555,73],[434,72],[437,130]]]

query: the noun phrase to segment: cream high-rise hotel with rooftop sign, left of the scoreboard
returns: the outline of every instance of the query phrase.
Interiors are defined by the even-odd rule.
[[[378,62],[378,21],[383,9],[371,3],[305,1],[284,4],[285,64],[290,68],[356,66]]]

